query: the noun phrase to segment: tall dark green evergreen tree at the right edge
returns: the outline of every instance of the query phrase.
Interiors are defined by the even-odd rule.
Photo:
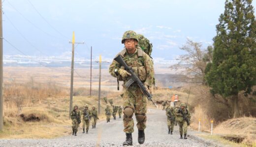
[[[256,85],[256,20],[252,0],[226,0],[216,26],[213,63],[206,81],[213,94],[232,103],[238,117],[238,93],[250,94]]]

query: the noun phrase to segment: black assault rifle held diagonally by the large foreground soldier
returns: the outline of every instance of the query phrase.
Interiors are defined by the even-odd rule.
[[[140,81],[138,76],[134,73],[131,67],[129,67],[121,55],[118,55],[114,60],[116,60],[119,64],[125,67],[126,71],[131,74],[131,78],[126,82],[125,87],[128,88],[132,83],[136,82],[144,95],[148,98],[148,100],[152,101],[153,104],[157,107],[156,103],[152,99],[152,95],[147,91],[146,87]]]

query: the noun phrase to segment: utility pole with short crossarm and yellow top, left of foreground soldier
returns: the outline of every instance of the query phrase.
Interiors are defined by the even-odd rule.
[[[69,99],[69,118],[72,111],[73,106],[73,76],[74,76],[74,51],[75,51],[75,44],[84,44],[84,42],[76,43],[75,42],[75,32],[73,32],[72,36],[72,62],[71,62],[71,82],[70,82],[70,99]]]

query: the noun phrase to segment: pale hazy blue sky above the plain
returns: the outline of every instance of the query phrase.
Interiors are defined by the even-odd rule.
[[[2,0],[3,37],[26,55],[71,56],[72,31],[76,57],[113,58],[134,30],[153,43],[155,59],[175,59],[187,38],[213,43],[225,0]],[[253,2],[254,7],[256,1]],[[21,54],[3,41],[4,55]]]

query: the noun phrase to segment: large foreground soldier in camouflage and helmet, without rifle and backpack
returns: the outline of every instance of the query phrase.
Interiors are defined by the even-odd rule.
[[[145,53],[138,46],[138,36],[134,31],[126,31],[122,38],[122,44],[125,48],[118,53],[124,59],[126,64],[132,68],[140,78],[144,87],[150,94],[153,92],[154,83],[154,66],[150,56]],[[124,85],[128,82],[129,76],[131,75],[126,69],[113,60],[109,67],[109,73],[117,77],[119,81],[124,81]],[[148,99],[142,93],[139,86],[135,83],[130,87],[123,88],[123,99],[124,99],[124,132],[126,133],[126,141],[123,146],[132,146],[132,135],[134,131],[134,122],[132,119],[133,114],[136,116],[137,128],[138,128],[138,143],[143,144],[145,141],[145,132],[147,122],[147,102]]]

